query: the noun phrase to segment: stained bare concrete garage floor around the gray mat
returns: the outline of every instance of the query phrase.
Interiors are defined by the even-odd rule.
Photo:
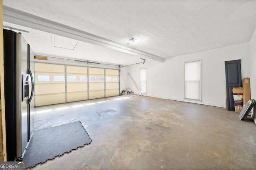
[[[224,108],[126,95],[35,111],[35,130],[80,120],[92,143],[32,169],[256,169],[256,125]]]

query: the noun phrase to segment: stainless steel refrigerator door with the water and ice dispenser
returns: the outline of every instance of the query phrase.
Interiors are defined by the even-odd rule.
[[[28,143],[28,43],[16,34],[16,157],[21,157]],[[26,88],[24,87],[26,86]],[[26,89],[25,92],[23,89]],[[22,101],[23,99],[23,101]]]

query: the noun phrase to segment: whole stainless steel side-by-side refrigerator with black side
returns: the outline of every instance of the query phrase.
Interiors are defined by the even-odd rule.
[[[22,159],[34,131],[34,53],[21,33],[4,29],[7,161]]]

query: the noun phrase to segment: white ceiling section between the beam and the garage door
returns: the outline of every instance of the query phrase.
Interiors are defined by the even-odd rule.
[[[30,44],[36,55],[48,56],[48,57],[68,57],[74,59],[81,60],[89,60],[89,61],[100,61],[102,63],[111,63],[111,64],[131,64],[133,62],[141,62],[140,58],[129,55],[126,53],[122,53],[119,51],[107,49],[105,47],[100,47],[98,45],[92,45],[89,43],[85,43],[82,41],[78,41],[74,50],[53,47],[52,42],[52,34],[46,33],[43,31],[38,31],[35,29],[30,29],[27,27],[22,27],[19,25],[15,25],[12,23],[3,23],[8,27],[13,27],[19,29],[29,31],[29,33],[21,32],[26,41]],[[16,31],[16,30],[13,30]],[[19,32],[19,31],[16,31]],[[59,37],[58,35],[54,35],[54,37],[58,37],[62,40],[70,40],[68,38]],[[72,39],[71,39],[72,41]],[[74,41],[74,40],[73,40]],[[56,44],[56,42],[55,42]]]

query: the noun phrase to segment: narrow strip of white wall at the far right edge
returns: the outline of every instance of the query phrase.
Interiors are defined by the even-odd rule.
[[[256,99],[256,29],[250,41],[250,86],[251,98]],[[256,123],[255,107],[252,110],[254,115],[254,122]]]

